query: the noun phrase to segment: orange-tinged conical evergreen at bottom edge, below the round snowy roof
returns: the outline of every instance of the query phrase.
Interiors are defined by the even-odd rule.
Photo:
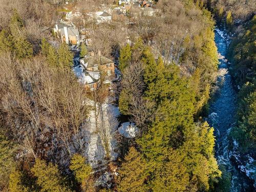
[[[147,191],[144,184],[146,178],[146,162],[135,147],[131,147],[119,169],[117,190],[119,192]]]

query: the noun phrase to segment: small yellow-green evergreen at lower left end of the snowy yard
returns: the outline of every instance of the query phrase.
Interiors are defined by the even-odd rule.
[[[70,162],[70,169],[73,171],[78,183],[85,182],[92,173],[92,167],[86,164],[86,158],[79,154],[73,155]]]

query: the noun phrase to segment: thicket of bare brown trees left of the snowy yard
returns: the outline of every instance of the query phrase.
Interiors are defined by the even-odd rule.
[[[0,56],[0,113],[25,157],[69,156],[80,150],[86,93],[71,71],[49,68],[43,57]],[[55,150],[58,148],[58,151]],[[65,161],[65,158],[63,159]]]

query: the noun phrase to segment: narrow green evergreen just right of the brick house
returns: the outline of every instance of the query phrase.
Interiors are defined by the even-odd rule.
[[[120,57],[119,57],[119,69],[121,72],[124,71],[124,69],[129,66],[132,59],[132,51],[129,44],[126,44],[125,47],[123,47],[120,50]]]

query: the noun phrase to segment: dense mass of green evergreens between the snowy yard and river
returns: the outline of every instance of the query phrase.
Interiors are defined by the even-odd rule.
[[[136,140],[141,157],[147,164],[143,174],[148,174],[141,181],[144,185],[141,185],[140,190],[145,186],[153,191],[157,191],[159,187],[162,191],[208,190],[208,182],[219,177],[221,172],[214,158],[213,129],[207,123],[194,123],[193,89],[187,86],[187,79],[180,76],[175,65],[164,65],[161,57],[156,61],[150,48],[144,47],[140,58],[140,65],[143,66],[141,79],[144,83],[141,96],[147,102],[154,103],[153,117],[139,124],[142,132]],[[136,105],[130,101],[138,91],[124,87],[122,92],[128,94],[120,97],[120,109],[133,111]],[[128,105],[123,106],[124,103]],[[133,118],[134,114],[131,116]],[[132,158],[129,156],[132,155],[129,153],[125,158]],[[130,168],[135,169],[138,163],[131,164]],[[127,165],[124,163],[123,166]],[[138,180],[141,175],[126,177]],[[125,175],[120,175],[117,185],[121,191],[125,186],[119,183],[126,179]]]

